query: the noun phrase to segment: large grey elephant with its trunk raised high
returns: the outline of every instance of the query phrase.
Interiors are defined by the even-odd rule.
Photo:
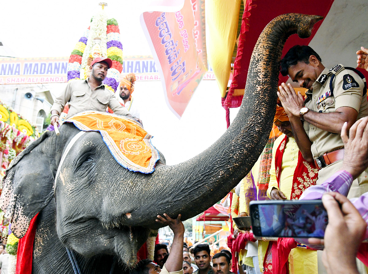
[[[157,215],[180,213],[185,220],[222,199],[247,175],[268,140],[286,39],[295,33],[309,37],[321,19],[284,14],[265,27],[236,118],[188,161],[168,166],[161,157],[153,173],[131,172],[114,160],[99,133],[79,135],[70,123],[60,127],[60,136],[46,132],[22,151],[6,172],[0,206],[18,238],[39,212],[32,273],[73,273],[68,250],[81,273],[125,273],[137,263],[150,230],[160,227]]]

